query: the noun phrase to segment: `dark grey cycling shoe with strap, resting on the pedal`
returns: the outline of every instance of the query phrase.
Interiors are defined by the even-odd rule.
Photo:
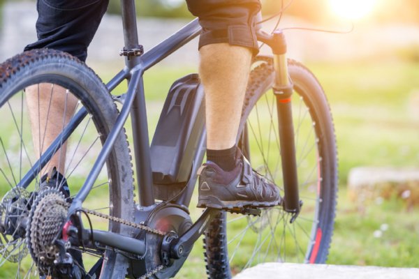
[[[198,207],[233,209],[269,207],[281,203],[274,183],[255,172],[240,151],[235,169],[226,172],[208,161],[198,171]]]

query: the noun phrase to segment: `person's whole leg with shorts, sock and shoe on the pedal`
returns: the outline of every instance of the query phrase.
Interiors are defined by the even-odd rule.
[[[190,0],[200,19],[200,78],[205,89],[207,159],[200,170],[200,207],[274,206],[276,186],[252,171],[235,146],[252,52],[258,52],[258,0]]]

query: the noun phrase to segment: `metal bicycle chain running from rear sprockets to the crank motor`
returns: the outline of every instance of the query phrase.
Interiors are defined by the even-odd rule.
[[[61,202],[59,200],[57,200],[57,202],[59,204],[64,205],[64,206],[70,207],[70,204],[68,204],[67,202]],[[166,235],[165,232],[162,232],[159,229],[153,229],[151,227],[148,227],[147,225],[133,223],[131,221],[124,220],[122,218],[118,218],[118,217],[115,217],[115,216],[106,215],[106,214],[103,214],[103,213],[98,212],[98,211],[94,211],[94,210],[91,210],[91,209],[85,209],[83,207],[82,207],[81,210],[84,211],[84,212],[86,212],[86,213],[88,213],[88,214],[97,216],[99,218],[104,218],[104,219],[112,220],[113,222],[120,223],[122,225],[127,225],[127,226],[130,226],[130,227],[135,227],[136,229],[142,229],[142,230],[144,230],[146,232],[150,232],[152,234],[157,234],[159,236],[165,236]],[[164,264],[161,264],[159,266],[156,266],[154,269],[152,269],[152,271],[149,271],[149,272],[145,273],[145,275],[139,277],[139,279],[149,278],[149,277],[153,276],[154,274],[158,273],[159,271],[161,271],[162,269],[164,269],[164,267],[165,267]]]

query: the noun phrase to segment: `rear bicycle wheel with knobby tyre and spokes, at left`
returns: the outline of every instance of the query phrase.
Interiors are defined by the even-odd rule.
[[[63,52],[33,50],[17,55],[0,65],[0,265],[3,265],[2,273],[8,278],[38,278],[40,273],[45,276],[53,274],[54,255],[44,251],[43,246],[51,241],[47,237],[54,237],[57,229],[61,228],[62,220],[58,218],[55,223],[50,222],[51,219],[47,219],[49,223],[39,220],[43,217],[50,218],[47,214],[52,214],[56,209],[64,211],[65,216],[65,210],[57,204],[51,210],[45,206],[51,199],[62,200],[63,197],[60,197],[57,190],[50,189],[45,192],[44,188],[40,188],[41,169],[34,170],[35,177],[27,188],[16,186],[41,156],[40,150],[45,151],[47,148],[44,144],[45,131],[51,130],[47,127],[53,123],[52,115],[57,115],[54,113],[58,106],[57,98],[64,100],[64,113],[67,113],[67,109],[72,110],[70,115],[87,110],[87,116],[66,141],[67,152],[63,147],[56,153],[60,156],[59,162],[65,162],[65,165],[55,167],[63,169],[73,197],[84,183],[117,119],[117,107],[110,94],[91,69]],[[73,98],[77,99],[72,101],[75,107],[69,105]],[[42,100],[46,100],[47,103],[42,103]],[[35,114],[34,110],[29,112],[29,102],[31,105],[36,103]],[[60,103],[62,105],[63,102]],[[29,113],[33,114],[31,119]],[[44,118],[45,123],[41,121]],[[36,125],[39,133],[32,135],[31,125]],[[53,132],[61,132],[66,126],[66,121],[63,120]],[[38,142],[39,146],[34,146],[34,142]],[[45,169],[52,167],[49,164],[47,163]],[[132,220],[132,178],[126,135],[120,133],[83,206]],[[59,188],[57,185],[55,187]],[[40,204],[45,208],[40,208]],[[36,208],[38,211],[34,213]],[[43,209],[45,213],[42,212]],[[39,220],[33,217],[35,214]],[[129,227],[95,216],[90,216],[89,219],[95,229],[131,236]],[[35,224],[36,222],[39,223]],[[98,259],[103,258],[103,264],[98,264],[101,266],[99,270],[102,270],[101,278],[124,278],[126,275],[127,259],[115,250],[88,250],[78,247],[71,249],[82,252],[86,272]],[[78,265],[81,264],[79,261]]]

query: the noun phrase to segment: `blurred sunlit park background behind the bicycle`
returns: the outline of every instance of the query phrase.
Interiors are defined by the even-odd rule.
[[[137,2],[145,50],[193,18],[182,0]],[[265,0],[264,17],[284,7],[289,56],[318,77],[335,120],[339,201],[328,263],[419,267],[419,1]],[[36,2],[0,0],[0,12],[3,61],[36,39]],[[111,0],[89,48],[87,63],[105,82],[124,63],[118,13]],[[170,84],[197,63],[194,40],[145,74],[151,129]],[[198,246],[179,278],[205,274]]]

